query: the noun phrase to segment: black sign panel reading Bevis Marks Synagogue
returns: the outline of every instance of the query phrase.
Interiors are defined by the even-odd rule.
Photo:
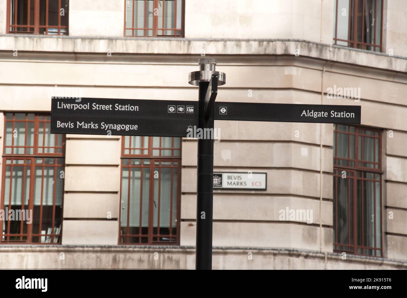
[[[51,133],[188,137],[194,126],[197,119],[51,115]]]

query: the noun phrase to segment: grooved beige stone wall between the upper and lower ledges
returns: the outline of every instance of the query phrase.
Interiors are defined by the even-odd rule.
[[[16,38],[18,39],[18,37]],[[309,54],[317,47],[309,44]],[[326,48],[328,51],[329,49]],[[385,257],[406,259],[405,197],[407,168],[407,105],[405,74],[341,63],[342,51],[326,65],[322,90],[360,87],[361,101],[322,98],[324,104],[362,106],[362,125],[383,129],[383,225]],[[325,53],[325,50],[324,50]],[[79,87],[83,97],[196,100],[197,88],[186,74],[197,68],[198,57],[180,55],[166,63],[159,57],[93,54],[74,61],[61,54],[2,53],[0,86],[2,111],[49,111],[55,85]],[[354,53],[362,59],[375,54]],[[68,59],[66,59],[68,58]],[[156,59],[159,59],[156,62]],[[162,57],[164,59],[164,56]],[[218,69],[228,76],[218,101],[321,103],[321,74],[326,61],[312,57],[250,55],[219,56]],[[392,59],[388,57],[387,59]],[[393,58],[397,69],[403,59]],[[45,61],[46,60],[46,61]],[[337,61],[339,60],[339,61]],[[239,63],[237,63],[239,62]],[[400,63],[398,63],[400,62]],[[171,76],[166,74],[171,73]],[[256,74],[256,75],[253,75]],[[184,79],[180,79],[184,78]],[[248,97],[248,90],[253,97]],[[378,115],[380,111],[380,117]],[[3,124],[1,124],[3,125]],[[332,252],[333,125],[280,122],[217,121],[217,171],[267,172],[267,191],[215,191],[215,246],[274,247]],[[322,129],[322,213],[319,213]],[[389,130],[394,137],[387,137]],[[295,137],[296,131],[299,137]],[[120,204],[120,137],[67,135],[66,180],[62,243],[114,245],[118,243]],[[196,141],[184,139],[182,151],[181,245],[195,244]],[[280,209],[312,209],[313,224],[281,222]],[[107,212],[112,219],[107,220]],[[394,219],[387,213],[392,211]],[[322,230],[319,223],[322,220]],[[103,227],[103,228],[102,228]],[[322,232],[322,233],[321,233]]]

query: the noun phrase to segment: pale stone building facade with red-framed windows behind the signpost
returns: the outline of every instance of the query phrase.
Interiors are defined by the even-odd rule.
[[[267,189],[214,190],[213,268],[407,268],[405,1],[46,2],[0,3],[1,208],[33,209],[2,221],[0,268],[195,268],[196,140],[56,136],[49,115],[51,96],[196,101],[204,56],[217,101],[361,106],[360,126],[215,122],[214,171]]]

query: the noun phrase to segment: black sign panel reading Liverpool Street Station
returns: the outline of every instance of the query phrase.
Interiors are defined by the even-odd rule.
[[[113,98],[52,98],[51,115],[198,119],[198,102]]]

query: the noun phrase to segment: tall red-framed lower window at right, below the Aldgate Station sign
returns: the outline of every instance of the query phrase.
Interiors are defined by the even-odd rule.
[[[381,133],[335,125],[333,150],[334,250],[383,257]]]

